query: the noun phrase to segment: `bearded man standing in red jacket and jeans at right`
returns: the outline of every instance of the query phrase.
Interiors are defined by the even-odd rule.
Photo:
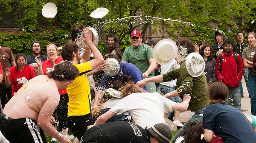
[[[230,39],[225,40],[223,45],[224,51],[216,59],[216,77],[228,87],[226,103],[231,105],[233,100],[233,106],[241,111],[239,81],[244,74],[243,63],[241,56],[233,52],[233,42]]]

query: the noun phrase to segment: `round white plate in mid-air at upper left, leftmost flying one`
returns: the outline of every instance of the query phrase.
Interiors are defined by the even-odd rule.
[[[42,8],[42,15],[46,18],[53,18],[57,14],[57,6],[54,3],[47,3]]]

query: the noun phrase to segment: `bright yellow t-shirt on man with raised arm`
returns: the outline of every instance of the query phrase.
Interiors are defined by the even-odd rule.
[[[81,73],[92,70],[90,62],[73,64]],[[69,98],[67,116],[81,116],[91,112],[90,84],[86,73],[76,77],[72,84],[67,86]]]

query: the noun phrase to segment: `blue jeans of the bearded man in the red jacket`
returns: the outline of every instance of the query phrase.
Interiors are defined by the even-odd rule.
[[[239,87],[227,87],[229,92],[228,92],[228,97],[225,100],[228,105],[231,105],[231,94],[233,98],[233,103],[234,107],[239,109],[241,111],[241,95],[239,92]]]

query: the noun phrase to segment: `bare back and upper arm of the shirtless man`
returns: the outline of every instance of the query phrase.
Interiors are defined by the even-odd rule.
[[[55,80],[37,76],[18,90],[6,104],[3,113],[12,119],[28,117],[38,121],[40,115],[51,117],[59,98]]]

